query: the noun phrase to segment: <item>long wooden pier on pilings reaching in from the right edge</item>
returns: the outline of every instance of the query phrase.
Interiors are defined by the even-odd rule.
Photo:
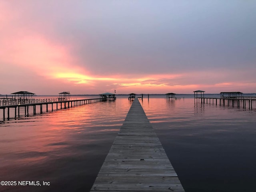
[[[200,98],[194,98],[195,102],[201,102],[201,103],[206,103],[206,104],[219,104],[223,106],[232,106],[232,107],[238,107],[240,108],[240,104],[243,106],[245,109],[246,106],[248,105],[249,109],[252,109],[252,102],[256,101],[256,97],[236,97],[236,98],[229,98],[229,97],[224,97],[224,98],[205,98],[205,97],[200,97]],[[208,101],[209,100],[209,101]]]

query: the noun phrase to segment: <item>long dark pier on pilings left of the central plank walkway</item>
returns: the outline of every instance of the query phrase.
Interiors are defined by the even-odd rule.
[[[84,104],[90,104],[90,103],[95,103],[95,102],[102,102],[106,101],[105,98],[94,98],[94,99],[79,99],[79,100],[55,100],[55,99],[41,99],[41,102],[34,102],[34,103],[24,103],[24,104],[9,104],[9,105],[4,105],[0,106],[0,109],[3,110],[3,121],[10,120],[10,118],[19,118],[21,116],[20,114],[20,108],[24,108],[24,116],[29,115],[29,111],[33,110],[33,112],[30,111],[33,115],[36,115],[36,107],[40,107],[40,114],[43,113],[43,106],[46,106],[46,111],[48,112],[53,111],[55,108],[56,110],[59,109],[66,109],[70,108],[73,106],[79,106],[79,105],[84,105]],[[50,107],[49,107],[50,106]],[[10,109],[14,108],[14,115],[10,116]],[[49,109],[50,108],[50,109]],[[7,112],[6,112],[7,109]],[[7,116],[6,116],[7,113]],[[23,115],[22,115],[23,116]]]

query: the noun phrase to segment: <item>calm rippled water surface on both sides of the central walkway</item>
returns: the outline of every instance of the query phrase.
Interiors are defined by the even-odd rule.
[[[140,102],[187,192],[256,191],[255,103]],[[120,96],[0,122],[0,180],[41,184],[0,191],[89,191],[131,104]]]

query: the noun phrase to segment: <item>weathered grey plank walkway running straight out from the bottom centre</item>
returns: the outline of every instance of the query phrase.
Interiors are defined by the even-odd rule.
[[[94,191],[184,192],[170,160],[136,98],[91,188]]]

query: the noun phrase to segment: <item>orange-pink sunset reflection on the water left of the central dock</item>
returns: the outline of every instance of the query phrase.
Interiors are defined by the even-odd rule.
[[[125,99],[86,104],[1,124],[0,132],[4,135],[0,138],[1,174],[6,180],[32,180],[32,177],[42,180],[43,176],[54,181],[56,177],[43,173],[61,172],[74,166],[71,157],[84,162],[89,156],[104,160],[102,152],[95,150],[108,152],[128,112],[128,102]],[[106,140],[110,142],[103,146]]]

